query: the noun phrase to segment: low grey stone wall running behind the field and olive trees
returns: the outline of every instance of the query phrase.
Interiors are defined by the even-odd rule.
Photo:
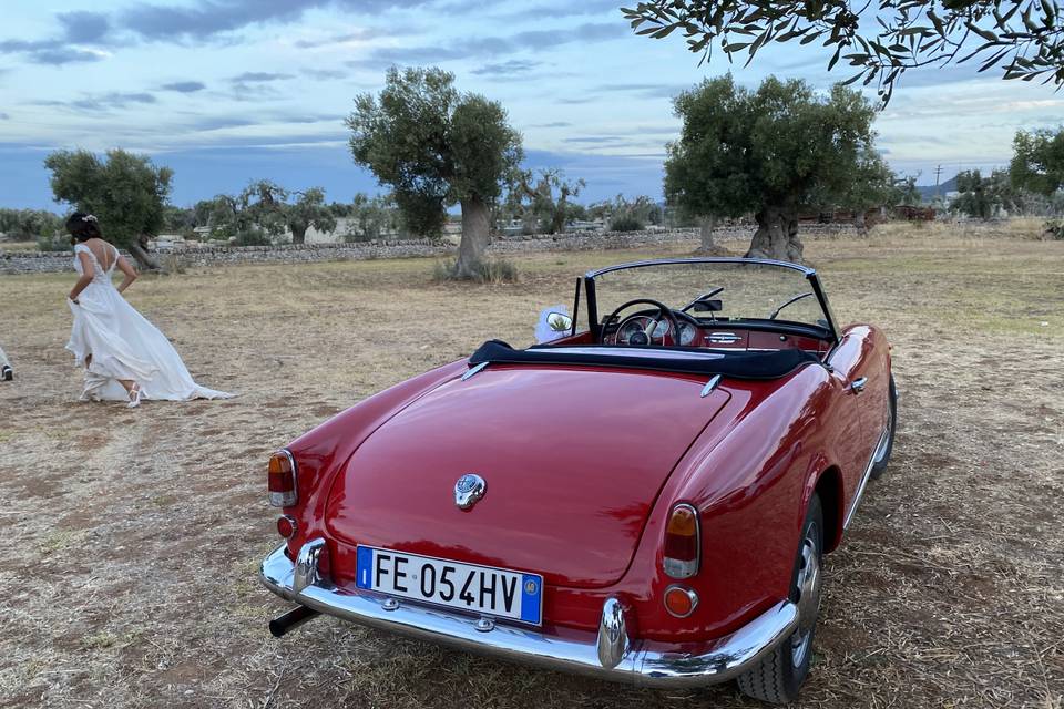
[[[716,230],[718,240],[747,239],[751,227],[730,226]],[[853,235],[850,226],[816,225],[802,227],[802,238]],[[584,232],[579,234],[535,234],[495,238],[489,255],[538,251],[590,251],[637,248],[655,244],[697,242],[695,229],[654,232]],[[352,244],[286,244],[282,246],[177,246],[160,249],[160,260],[177,259],[183,267],[229,264],[298,264],[307,261],[370,260],[375,258],[453,257],[457,247],[449,242],[430,239],[376,240]],[[129,256],[129,255],[126,255]],[[70,251],[0,250],[0,275],[49,274],[73,270]]]

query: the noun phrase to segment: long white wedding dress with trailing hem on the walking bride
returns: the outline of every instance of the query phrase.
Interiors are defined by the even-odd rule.
[[[133,380],[140,386],[141,399],[187,401],[190,399],[228,399],[234,394],[201,387],[181,361],[166,336],[126,302],[111,281],[119,260],[119,250],[108,245],[114,258],[104,270],[95,254],[84,244],[74,246],[74,268],[83,275],[78,253],[89,255],[93,274],[78,304],[68,300],[74,315],[66,349],[76,363],[84,366],[85,389],[82,399],[129,401],[119,380]]]

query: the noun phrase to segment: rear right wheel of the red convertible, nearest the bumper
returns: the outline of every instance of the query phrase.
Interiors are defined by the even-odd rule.
[[[738,678],[739,690],[770,703],[787,703],[798,698],[798,689],[809,674],[812,638],[820,614],[820,587],[823,582],[823,510],[817,495],[809,501],[801,526],[801,544],[791,574],[790,599],[798,606],[798,628],[757,667]]]

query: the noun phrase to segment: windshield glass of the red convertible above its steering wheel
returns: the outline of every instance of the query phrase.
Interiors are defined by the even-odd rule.
[[[741,261],[661,261],[594,275],[598,321],[636,298],[651,298],[699,320],[778,320],[828,328],[807,271]],[[702,302],[690,306],[702,298]],[[690,307],[688,307],[690,306]],[[652,309],[634,305],[621,314]]]

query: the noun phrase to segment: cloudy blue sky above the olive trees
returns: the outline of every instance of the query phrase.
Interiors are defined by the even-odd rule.
[[[3,0],[0,207],[60,209],[42,161],[122,147],[175,172],[188,206],[269,178],[329,201],[381,191],[354,164],[344,119],[392,64],[438,65],[500,101],[526,166],[560,167],[582,201],[659,197],[672,96],[733,71],[827,89],[816,44],[776,44],[748,68],[699,65],[683,38],[636,37],[623,0]],[[679,33],[676,33],[677,35]],[[876,99],[869,92],[872,100]],[[1064,123],[1064,94],[974,66],[906,73],[876,121],[891,167],[934,183],[1007,163],[1017,129]]]

